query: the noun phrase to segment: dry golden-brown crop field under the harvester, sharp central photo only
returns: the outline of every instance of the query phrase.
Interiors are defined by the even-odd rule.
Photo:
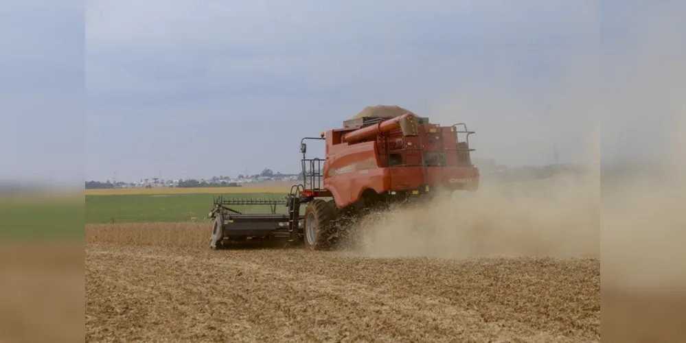
[[[87,225],[87,340],[599,340],[598,259],[212,252],[207,237]]]

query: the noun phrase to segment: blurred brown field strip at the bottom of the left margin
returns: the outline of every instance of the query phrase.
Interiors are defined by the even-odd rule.
[[[78,342],[83,241],[2,241],[0,342]]]

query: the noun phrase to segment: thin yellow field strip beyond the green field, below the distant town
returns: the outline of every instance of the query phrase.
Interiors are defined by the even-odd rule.
[[[117,189],[86,189],[87,196],[115,196],[133,194],[184,194],[184,193],[288,193],[290,186],[267,187],[203,187],[203,188],[117,188]]]

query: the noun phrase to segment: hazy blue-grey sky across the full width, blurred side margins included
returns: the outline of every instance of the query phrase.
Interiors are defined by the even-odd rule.
[[[473,157],[505,165],[553,163],[556,145],[560,162],[586,161],[599,141],[604,161],[650,154],[659,139],[628,146],[669,126],[654,112],[671,113],[665,104],[680,94],[650,90],[683,84],[686,51],[675,43],[686,25],[680,1],[12,0],[0,9],[0,43],[12,51],[0,54],[0,157],[12,162],[2,178],[299,172],[301,137],[376,104],[466,122],[477,132]]]

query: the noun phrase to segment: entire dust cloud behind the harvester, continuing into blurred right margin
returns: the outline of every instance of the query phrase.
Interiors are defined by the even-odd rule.
[[[437,105],[437,122],[476,123],[475,157],[540,163],[562,141],[576,145],[575,163],[590,167],[583,176],[517,183],[483,176],[475,193],[372,215],[361,226],[373,242],[365,255],[597,257],[603,287],[686,287],[684,10],[673,3],[636,11],[619,28],[626,41],[569,56],[560,84],[538,100],[481,82]],[[510,117],[478,116],[489,112]]]

